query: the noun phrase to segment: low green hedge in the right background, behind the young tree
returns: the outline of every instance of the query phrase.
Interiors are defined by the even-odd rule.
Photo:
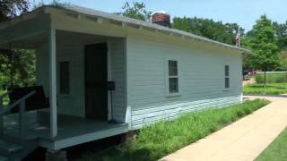
[[[257,74],[255,77],[257,83],[264,83],[264,74]],[[287,72],[283,73],[266,73],[266,83],[287,82]]]

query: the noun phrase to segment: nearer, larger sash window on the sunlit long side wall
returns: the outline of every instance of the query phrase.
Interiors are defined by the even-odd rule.
[[[178,61],[169,60],[169,93],[178,93]]]

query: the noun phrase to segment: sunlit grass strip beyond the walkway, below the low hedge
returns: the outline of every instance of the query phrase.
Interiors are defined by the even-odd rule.
[[[247,84],[243,87],[244,94],[270,94],[279,95],[287,93],[287,83]]]

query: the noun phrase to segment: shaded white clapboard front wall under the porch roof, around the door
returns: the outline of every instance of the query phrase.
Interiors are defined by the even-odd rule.
[[[69,35],[71,33],[57,34],[57,84],[59,83],[59,62],[70,63],[70,94],[61,95],[57,91],[57,112],[76,116],[85,115],[84,99],[84,46],[96,43],[107,42],[110,54],[111,80],[116,81],[116,90],[113,92],[114,119],[118,122],[125,122],[126,118],[126,76],[125,76],[125,39],[124,38],[102,38],[97,36]],[[62,40],[61,37],[69,39]],[[64,38],[65,38],[64,37]],[[43,85],[48,96],[48,47],[43,46],[37,49],[37,84]],[[96,74],[96,73],[95,73]],[[58,89],[58,88],[57,88]]]

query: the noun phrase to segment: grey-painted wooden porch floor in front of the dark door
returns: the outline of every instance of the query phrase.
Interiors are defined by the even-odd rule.
[[[4,133],[17,136],[17,114],[5,119]],[[126,123],[108,123],[83,117],[58,114],[57,137],[49,138],[49,113],[30,112],[26,114],[26,139],[39,139],[39,146],[50,149],[67,148],[92,140],[100,140],[128,131]]]

